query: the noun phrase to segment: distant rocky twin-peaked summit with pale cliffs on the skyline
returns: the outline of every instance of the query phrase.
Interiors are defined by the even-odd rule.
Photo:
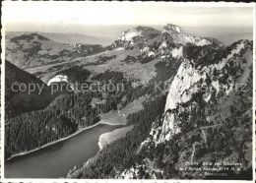
[[[117,49],[140,49],[142,57],[174,58],[182,56],[184,46],[224,47],[224,44],[213,37],[197,37],[186,33],[175,25],[166,25],[163,30],[149,27],[137,27],[126,30],[112,45]]]

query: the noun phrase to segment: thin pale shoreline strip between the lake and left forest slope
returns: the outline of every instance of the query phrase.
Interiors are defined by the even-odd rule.
[[[105,121],[99,121],[98,123],[96,123],[96,124],[94,124],[94,125],[92,125],[92,126],[85,127],[85,128],[81,128],[81,129],[79,129],[78,131],[76,131],[75,133],[73,133],[73,134],[71,134],[71,135],[69,135],[69,136],[67,136],[67,137],[61,138],[61,139],[59,139],[59,140],[57,140],[57,141],[53,141],[53,142],[51,142],[51,143],[47,143],[47,144],[45,144],[45,145],[43,145],[43,146],[41,146],[41,147],[39,147],[39,148],[33,149],[33,150],[31,150],[31,151],[28,151],[28,152],[19,152],[19,153],[13,154],[13,155],[11,155],[8,159],[6,159],[6,162],[10,161],[11,159],[13,159],[13,158],[15,158],[15,157],[23,156],[23,155],[26,155],[26,154],[29,154],[29,153],[32,153],[32,152],[37,152],[37,151],[39,151],[39,150],[41,150],[41,149],[44,149],[44,148],[47,148],[47,147],[49,147],[49,146],[55,145],[55,144],[57,144],[57,143],[59,143],[59,142],[66,141],[66,140],[68,140],[68,139],[70,139],[70,138],[72,138],[72,137],[74,137],[74,136],[80,134],[81,132],[84,132],[85,130],[89,130],[89,129],[91,129],[91,128],[96,127],[97,125],[118,126],[118,125],[120,125],[120,124],[113,124],[113,123],[107,123],[107,122],[105,122]]]

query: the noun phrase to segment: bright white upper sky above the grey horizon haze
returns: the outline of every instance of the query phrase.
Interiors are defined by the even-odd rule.
[[[177,3],[156,2],[7,1],[3,2],[2,19],[5,23],[90,25],[165,25],[172,23],[188,27],[252,26],[252,8],[198,6],[201,5],[194,4],[193,7],[188,7],[188,4],[185,4],[180,7]]]

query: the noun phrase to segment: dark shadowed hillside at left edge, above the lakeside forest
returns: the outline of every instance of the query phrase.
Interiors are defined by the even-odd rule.
[[[5,117],[45,108],[56,97],[50,88],[35,76],[5,60]],[[14,86],[13,86],[14,85]],[[19,90],[19,85],[22,90]],[[33,91],[29,93],[29,86]]]

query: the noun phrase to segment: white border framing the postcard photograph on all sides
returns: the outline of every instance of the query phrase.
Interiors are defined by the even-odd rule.
[[[255,3],[225,3],[225,2],[76,2],[76,1],[70,1],[70,2],[64,2],[64,1],[58,1],[58,2],[53,2],[53,1],[47,1],[47,2],[34,2],[34,1],[5,1],[3,2],[3,4],[5,3],[20,3],[20,4],[25,4],[25,3],[49,3],[49,4],[55,4],[55,3],[66,3],[67,6],[69,3],[88,3],[88,4],[109,4],[111,3],[112,5],[115,5],[115,4],[124,4],[125,6],[134,6],[135,4],[136,5],[145,5],[147,4],[147,6],[171,6],[171,7],[251,7],[253,8],[253,129],[252,129],[252,133],[253,133],[253,145],[252,145],[252,148],[253,148],[253,156],[252,156],[252,168],[253,168],[253,181],[240,181],[240,180],[125,180],[125,179],[122,179],[122,182],[126,182],[126,183],[130,183],[130,182],[138,182],[138,183],[141,183],[141,182],[156,182],[156,183],[166,183],[166,182],[202,182],[202,183],[205,183],[205,182],[230,182],[230,183],[234,183],[234,182],[254,182],[255,180],[255,83],[256,83],[256,75],[254,75],[254,70],[255,70],[255,16],[256,16],[256,11],[255,11],[255,8],[256,8],[256,5]],[[2,4],[2,5],[3,5]],[[3,17],[3,16],[2,16]],[[3,18],[2,18],[2,23],[3,23]],[[120,180],[115,180],[115,179],[7,179],[7,178],[4,178],[3,175],[4,175],[4,104],[5,104],[5,100],[4,100],[4,89],[5,89],[5,79],[4,79],[4,76],[5,76],[5,40],[4,40],[4,37],[5,37],[5,27],[4,25],[2,25],[2,40],[1,40],[1,44],[2,44],[2,54],[1,54],[1,60],[2,60],[2,64],[1,64],[1,181],[8,181],[8,182],[120,182]]]

